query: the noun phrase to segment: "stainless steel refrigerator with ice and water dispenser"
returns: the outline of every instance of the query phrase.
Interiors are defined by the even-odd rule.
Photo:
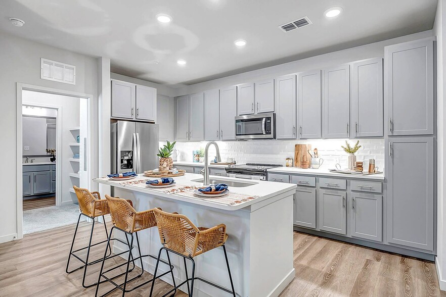
[[[111,123],[110,130],[112,173],[158,168],[158,125],[118,121]]]

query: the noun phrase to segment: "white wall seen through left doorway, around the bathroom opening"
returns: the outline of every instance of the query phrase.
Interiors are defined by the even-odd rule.
[[[58,117],[62,119],[62,127],[58,129],[62,130],[62,147],[56,151],[57,162],[61,162],[62,168],[62,190],[61,190],[61,202],[63,204],[71,204],[71,193],[69,189],[73,187],[73,182],[68,174],[77,172],[79,165],[68,161],[69,158],[73,158],[73,151],[69,145],[70,142],[76,142],[73,134],[69,130],[72,127],[78,127],[80,125],[79,106],[80,98],[61,96],[55,94],[47,94],[33,91],[23,91],[23,102],[33,103],[36,106],[39,104],[44,105],[57,105],[62,107],[59,109]],[[76,153],[78,152],[78,149]],[[79,184],[76,180],[75,184]]]

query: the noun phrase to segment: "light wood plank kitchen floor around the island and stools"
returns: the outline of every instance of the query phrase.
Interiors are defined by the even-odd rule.
[[[105,237],[101,224],[94,238]],[[30,234],[22,240],[0,244],[0,296],[94,296],[95,287],[83,289],[82,270],[65,273],[66,259],[74,225]],[[78,239],[86,241],[90,224],[82,222]],[[92,254],[92,259],[102,256]],[[76,246],[75,246],[76,248]],[[115,263],[123,260],[115,258]],[[73,262],[74,264],[74,262]],[[113,265],[109,263],[109,265]],[[402,257],[362,248],[322,237],[294,233],[294,267],[296,277],[282,292],[285,296],[444,296],[438,288],[435,265],[432,262]],[[87,283],[97,280],[99,266],[89,268]],[[138,272],[138,271],[137,271]],[[149,273],[134,283],[151,278]],[[110,289],[101,284],[102,292]],[[150,286],[143,286],[132,296],[147,296]],[[170,285],[157,280],[156,296]],[[115,291],[110,296],[120,296]],[[175,296],[187,296],[178,292]],[[244,297],[244,296],[242,296]],[[254,297],[254,296],[251,296]]]

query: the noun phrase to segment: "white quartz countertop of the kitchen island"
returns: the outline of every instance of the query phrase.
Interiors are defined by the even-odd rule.
[[[177,176],[174,177],[173,179],[175,180],[177,185],[195,185],[195,186],[202,186],[202,183],[199,182],[194,182],[192,180],[195,179],[202,179],[203,176],[201,174],[194,174],[194,173],[186,173],[183,176]],[[101,183],[101,184],[106,184],[106,185],[110,185],[110,186],[114,186],[114,187],[118,187],[118,188],[124,188],[127,190],[131,190],[131,191],[137,191],[137,192],[142,192],[142,193],[147,193],[147,194],[151,194],[151,195],[155,195],[155,196],[161,196],[161,197],[165,197],[168,199],[172,199],[172,200],[177,200],[177,201],[184,201],[184,202],[188,202],[188,203],[192,203],[192,204],[197,204],[197,205],[203,205],[203,206],[207,206],[207,207],[212,207],[212,208],[216,208],[216,209],[220,209],[220,210],[229,210],[229,211],[235,211],[235,210],[239,210],[242,208],[245,208],[247,206],[256,204],[256,203],[260,203],[263,202],[267,199],[276,197],[277,195],[280,195],[282,193],[288,192],[288,191],[295,191],[296,185],[295,184],[290,184],[290,183],[280,183],[280,182],[271,182],[271,181],[262,181],[262,180],[243,180],[243,179],[239,179],[239,178],[231,178],[231,177],[221,177],[221,176],[209,176],[210,179],[214,178],[214,179],[218,179],[221,181],[234,181],[234,182],[242,182],[242,183],[253,183],[252,185],[246,186],[246,187],[232,187],[229,186],[228,189],[232,192],[236,192],[236,193],[240,193],[240,194],[248,194],[248,195],[252,195],[252,196],[259,196],[256,199],[253,200],[249,200],[246,202],[242,202],[240,204],[237,205],[224,205],[224,204],[219,204],[219,203],[215,203],[212,202],[210,199],[201,199],[199,197],[192,198],[192,197],[186,197],[186,196],[182,196],[182,195],[177,195],[177,194],[173,194],[173,193],[164,193],[162,191],[159,190],[154,190],[148,186],[145,187],[141,187],[141,185],[132,185],[132,184],[126,184],[126,181],[115,181],[115,180],[110,180],[108,178],[94,178],[93,181]],[[151,177],[146,177],[143,174],[139,174],[137,178],[132,179],[132,181],[137,181],[137,180],[142,180],[142,179],[154,179]],[[130,181],[130,180],[128,180]],[[165,188],[166,190],[168,190],[169,188]]]

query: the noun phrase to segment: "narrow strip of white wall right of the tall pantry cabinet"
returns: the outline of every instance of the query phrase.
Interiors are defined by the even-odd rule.
[[[443,69],[443,42],[444,34],[446,34],[446,0],[439,0],[437,6],[437,12],[435,15],[435,22],[433,26],[433,33],[437,36],[437,257],[435,264],[437,267],[438,279],[440,281],[440,289],[446,290],[446,279],[444,278],[444,272],[446,271],[446,242],[444,236],[444,230],[446,230],[444,215],[446,214],[446,205],[444,204],[444,166],[446,165],[445,152],[444,152],[444,71]]]

